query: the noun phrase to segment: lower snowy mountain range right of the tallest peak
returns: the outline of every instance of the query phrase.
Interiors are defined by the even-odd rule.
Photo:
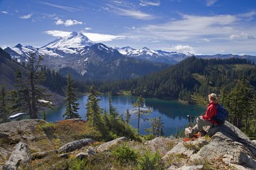
[[[150,50],[149,48],[134,49],[129,46],[123,48],[117,48],[121,54],[125,54],[132,58],[144,59],[152,62],[158,63],[168,63],[175,64],[182,61],[187,56],[191,54],[179,53],[179,52],[165,52],[162,50]]]

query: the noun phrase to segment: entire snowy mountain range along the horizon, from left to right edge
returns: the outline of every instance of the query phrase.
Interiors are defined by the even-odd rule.
[[[14,48],[5,48],[5,52],[8,52],[12,58],[16,58],[18,63],[27,62],[29,55],[35,52],[38,56],[44,56],[42,64],[47,67],[55,71],[61,69],[62,73],[67,73],[67,70],[70,70],[68,67],[72,68],[82,80],[138,78],[148,73],[160,71],[166,68],[167,65],[175,65],[185,58],[193,56],[190,53],[150,50],[147,47],[139,50],[130,46],[111,48],[102,43],[96,44],[83,35],[83,33],[76,32],[72,32],[66,37],[55,39],[41,48],[17,44]],[[232,56],[231,54],[217,54],[214,56],[202,55],[197,57],[230,58]],[[256,62],[256,58],[253,56],[236,55],[235,57],[249,58]],[[138,61],[135,62],[134,60]],[[130,69],[127,70],[125,67]]]

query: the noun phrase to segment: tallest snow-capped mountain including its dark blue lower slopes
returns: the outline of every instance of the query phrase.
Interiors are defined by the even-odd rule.
[[[136,78],[147,73],[166,68],[166,64],[150,61],[137,61],[120,54],[116,49],[104,44],[95,44],[82,33],[56,39],[42,48],[22,46],[5,48],[18,62],[26,62],[31,52],[43,56],[42,65],[59,70],[66,75],[72,73],[79,80],[115,80],[119,78]]]

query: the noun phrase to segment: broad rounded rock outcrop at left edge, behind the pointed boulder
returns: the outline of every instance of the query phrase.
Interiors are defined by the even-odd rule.
[[[44,131],[40,129],[40,124],[46,123],[44,120],[33,119],[0,124],[0,165],[8,160],[14,146],[19,141],[25,141],[29,149],[37,152],[51,146],[51,141],[47,139]],[[37,145],[38,141],[44,141],[47,146]]]

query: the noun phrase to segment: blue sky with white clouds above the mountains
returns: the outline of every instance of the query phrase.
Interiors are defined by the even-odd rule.
[[[255,0],[0,0],[0,46],[72,31],[111,47],[256,55]]]

